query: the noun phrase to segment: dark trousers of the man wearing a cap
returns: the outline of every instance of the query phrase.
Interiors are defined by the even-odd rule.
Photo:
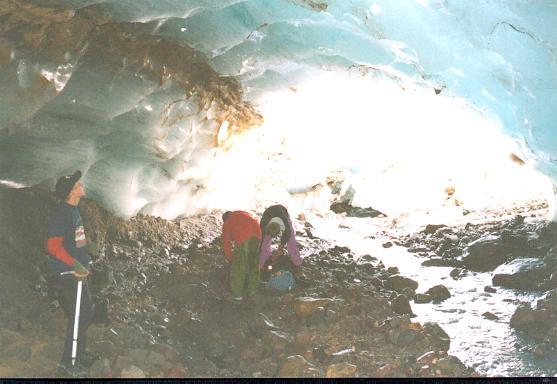
[[[60,302],[60,306],[64,310],[68,318],[68,327],[66,328],[66,341],[64,342],[64,352],[62,353],[61,363],[64,365],[72,364],[72,344],[73,344],[73,328],[75,320],[75,302],[77,296],[77,280],[75,277],[68,275],[62,276],[54,282],[56,296]],[[87,328],[91,325],[95,313],[95,306],[91,300],[89,285],[87,281],[83,282],[81,288],[81,306],[79,310],[79,328],[77,334],[77,356],[76,364],[80,362],[85,345],[87,343]]]

